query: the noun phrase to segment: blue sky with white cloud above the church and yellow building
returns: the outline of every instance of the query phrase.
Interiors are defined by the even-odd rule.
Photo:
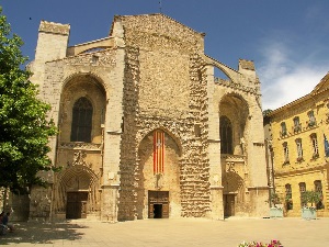
[[[237,69],[253,60],[263,110],[309,93],[329,70],[328,0],[0,0],[34,58],[41,20],[69,23],[69,45],[107,36],[113,16],[159,13],[206,33],[205,53]]]

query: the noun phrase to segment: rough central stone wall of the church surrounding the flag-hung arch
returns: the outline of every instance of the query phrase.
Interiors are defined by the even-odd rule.
[[[182,143],[182,216],[204,216],[209,210],[209,191],[206,82],[198,55],[203,49],[197,49],[203,47],[202,35],[163,15],[124,16],[122,21],[126,45],[134,47],[127,49],[124,122],[128,134],[124,133],[122,142],[118,211],[125,211],[124,218],[136,217],[138,178],[134,172],[141,172],[135,164],[138,144],[141,136],[164,127]],[[201,128],[197,137],[195,124]]]

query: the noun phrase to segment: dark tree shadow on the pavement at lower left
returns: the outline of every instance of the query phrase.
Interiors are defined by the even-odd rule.
[[[16,223],[13,233],[0,236],[0,245],[12,244],[53,244],[54,240],[78,240],[82,238],[80,228],[87,228],[72,223]]]

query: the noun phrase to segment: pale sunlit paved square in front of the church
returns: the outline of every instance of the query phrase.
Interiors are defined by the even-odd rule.
[[[105,223],[16,223],[16,231],[0,236],[9,246],[220,246],[235,247],[242,240],[269,243],[280,239],[284,247],[325,247],[329,244],[329,218],[205,218],[144,220]]]

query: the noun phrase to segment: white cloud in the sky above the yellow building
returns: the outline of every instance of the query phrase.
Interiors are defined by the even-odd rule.
[[[300,60],[297,47],[281,42],[268,42],[263,47],[258,69],[263,110],[277,109],[308,94],[329,70],[329,63],[311,56],[314,49],[309,54],[303,50],[307,58]]]

